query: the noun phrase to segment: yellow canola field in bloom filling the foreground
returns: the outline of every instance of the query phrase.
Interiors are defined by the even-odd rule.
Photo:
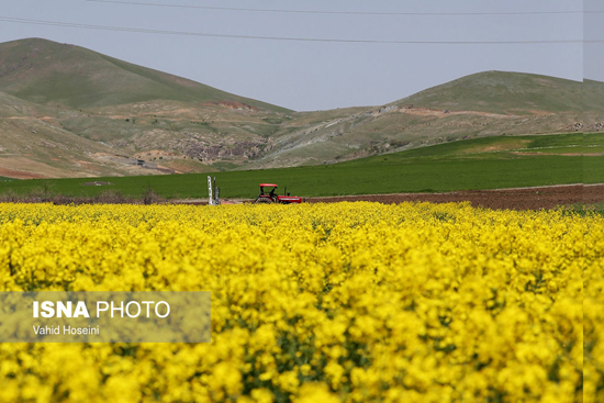
[[[0,291],[212,292],[210,344],[0,344],[0,401],[604,401],[603,255],[561,211],[0,204]]]

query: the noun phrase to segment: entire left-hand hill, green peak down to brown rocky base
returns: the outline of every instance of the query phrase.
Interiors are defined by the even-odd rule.
[[[215,170],[261,152],[288,110],[72,45],[0,44],[0,176]],[[144,159],[144,167],[132,166]],[[147,164],[148,163],[148,164]]]

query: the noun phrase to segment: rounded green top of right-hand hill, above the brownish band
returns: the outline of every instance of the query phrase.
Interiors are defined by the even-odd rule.
[[[533,114],[601,111],[604,82],[523,72],[484,71],[428,88],[395,102],[441,110]]]

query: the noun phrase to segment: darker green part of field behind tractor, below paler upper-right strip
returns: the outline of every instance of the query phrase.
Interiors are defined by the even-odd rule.
[[[602,159],[604,160],[604,159]],[[597,165],[585,166],[593,182],[604,181]],[[253,198],[260,182],[286,186],[304,197],[376,194],[399,192],[445,192],[468,189],[496,189],[583,180],[583,158],[529,156],[510,159],[416,159],[414,161],[371,160],[312,167],[281,168],[212,173],[224,198]],[[208,197],[206,175],[99,178],[114,183],[111,190],[139,195],[147,187],[166,198]],[[27,193],[47,183],[52,193],[96,195],[109,187],[83,187],[90,178],[24,180],[1,182],[0,193]]]

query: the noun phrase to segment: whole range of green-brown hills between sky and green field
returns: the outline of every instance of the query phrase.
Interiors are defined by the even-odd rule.
[[[600,131],[604,83],[485,71],[380,107],[293,112],[79,46],[0,44],[0,176],[323,165],[499,135]]]

